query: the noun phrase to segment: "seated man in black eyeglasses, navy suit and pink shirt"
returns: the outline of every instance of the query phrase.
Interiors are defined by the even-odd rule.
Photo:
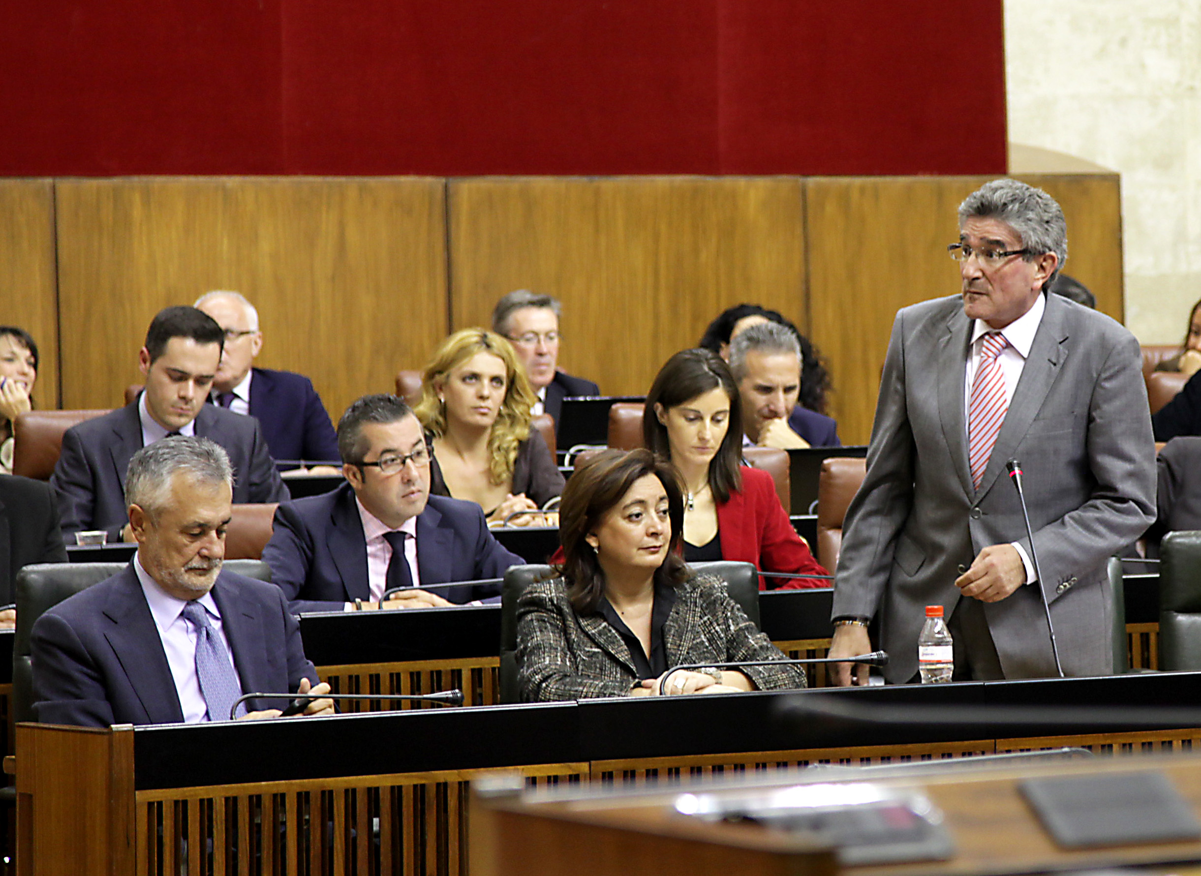
[[[423,588],[498,578],[525,563],[488,530],[479,505],[430,496],[425,436],[396,396],[368,395],[351,404],[337,424],[337,450],[346,484],[281,504],[263,550],[271,581],[294,613],[488,599],[500,587]]]

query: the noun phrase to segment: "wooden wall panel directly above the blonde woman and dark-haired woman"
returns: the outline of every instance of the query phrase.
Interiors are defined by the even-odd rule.
[[[645,394],[722,310],[806,324],[799,178],[483,178],[449,184],[454,326],[528,288],[563,302],[560,362]]]

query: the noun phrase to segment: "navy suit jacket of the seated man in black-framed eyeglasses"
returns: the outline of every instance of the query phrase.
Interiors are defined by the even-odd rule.
[[[292,611],[342,611],[346,602],[371,598],[368,545],[349,484],[283,503],[275,511],[274,527],[263,560]],[[431,496],[417,517],[417,570],[423,586],[498,578],[510,565],[524,563],[492,536],[474,502]],[[483,586],[434,590],[452,602],[500,592],[500,587]]]

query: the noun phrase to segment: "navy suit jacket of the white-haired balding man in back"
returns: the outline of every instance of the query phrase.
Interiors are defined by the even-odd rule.
[[[271,458],[341,466],[337,433],[307,377],[255,368],[250,380],[250,415],[258,420]]]

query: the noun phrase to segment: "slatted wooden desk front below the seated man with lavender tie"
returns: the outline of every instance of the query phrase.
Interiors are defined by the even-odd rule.
[[[580,781],[586,763],[521,769]],[[473,772],[138,792],[138,876],[465,876]]]

